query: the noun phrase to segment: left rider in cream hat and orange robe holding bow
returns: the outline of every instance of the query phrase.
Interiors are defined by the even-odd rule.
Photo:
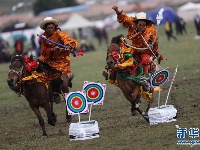
[[[41,55],[39,57],[39,62],[50,66],[50,68],[61,74],[61,77],[51,81],[54,91],[54,101],[56,103],[59,103],[61,100],[61,90],[63,93],[68,93],[68,86],[72,87],[71,81],[74,76],[70,70],[69,54],[74,52],[78,47],[78,42],[75,39],[58,28],[59,24],[60,22],[52,17],[46,17],[39,23],[39,27],[44,30],[42,36],[48,40],[66,46],[66,48],[62,48],[41,38]]]

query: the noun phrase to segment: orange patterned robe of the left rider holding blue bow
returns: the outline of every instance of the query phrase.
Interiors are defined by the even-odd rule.
[[[50,37],[47,36],[46,32],[42,34],[51,41],[57,42],[62,45],[70,45],[75,50],[78,47],[78,42],[74,40],[69,34],[56,30]],[[51,51],[56,45],[50,43],[45,39],[41,39],[41,56],[39,60],[49,64],[52,68],[61,71],[63,74],[70,71],[70,52],[62,50],[60,47],[56,51]]]

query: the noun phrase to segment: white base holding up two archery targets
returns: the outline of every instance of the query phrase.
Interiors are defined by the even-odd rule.
[[[88,140],[99,138],[99,126],[95,120],[71,123],[69,126],[69,139]]]

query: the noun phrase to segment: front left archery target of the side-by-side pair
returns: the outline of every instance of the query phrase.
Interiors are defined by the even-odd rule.
[[[69,115],[88,112],[88,103],[83,92],[70,92],[66,95],[66,105]]]

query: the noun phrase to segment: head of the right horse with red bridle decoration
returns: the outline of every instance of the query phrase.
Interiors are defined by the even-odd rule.
[[[114,68],[115,64],[120,61],[120,47],[122,46],[123,40],[124,36],[120,34],[118,36],[113,37],[110,45],[108,46],[106,63],[109,69]]]

